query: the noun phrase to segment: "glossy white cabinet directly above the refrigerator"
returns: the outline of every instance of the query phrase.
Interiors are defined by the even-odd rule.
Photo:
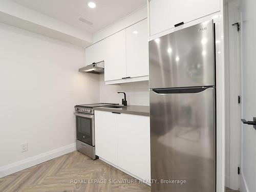
[[[150,35],[220,11],[218,0],[150,0]]]

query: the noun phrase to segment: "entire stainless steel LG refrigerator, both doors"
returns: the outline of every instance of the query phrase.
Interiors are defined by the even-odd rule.
[[[215,25],[178,30],[149,48],[152,192],[214,192]]]

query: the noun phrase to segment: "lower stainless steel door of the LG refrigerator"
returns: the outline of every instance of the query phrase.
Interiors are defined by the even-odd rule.
[[[167,93],[150,91],[152,192],[214,192],[215,89]]]

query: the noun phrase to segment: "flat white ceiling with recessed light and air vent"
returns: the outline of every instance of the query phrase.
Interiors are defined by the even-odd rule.
[[[39,13],[53,17],[83,31],[95,33],[122,17],[146,5],[146,0],[10,0]],[[96,3],[96,8],[88,7],[88,2]],[[94,24],[80,22],[81,15]]]

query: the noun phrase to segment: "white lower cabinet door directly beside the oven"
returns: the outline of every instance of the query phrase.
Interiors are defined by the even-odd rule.
[[[95,111],[95,153],[117,165],[117,120],[116,114]]]

